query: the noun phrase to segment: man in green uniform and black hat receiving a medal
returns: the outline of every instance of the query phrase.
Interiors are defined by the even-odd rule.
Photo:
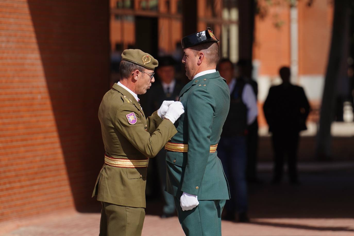
[[[230,107],[229,87],[216,71],[218,42],[210,28],[182,38],[182,62],[192,81],[179,94],[185,112],[175,124],[178,133],[165,145],[166,191],[175,196],[188,236],[221,235],[221,213],[230,197],[216,151]]]

